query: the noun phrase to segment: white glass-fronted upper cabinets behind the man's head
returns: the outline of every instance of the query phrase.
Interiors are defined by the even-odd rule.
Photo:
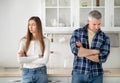
[[[87,23],[91,10],[102,13],[101,29],[120,31],[120,0],[41,0],[45,33],[71,33]]]

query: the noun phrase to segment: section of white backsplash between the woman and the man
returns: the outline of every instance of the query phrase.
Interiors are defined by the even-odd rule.
[[[51,40],[51,38],[49,38]],[[73,54],[70,49],[70,35],[53,35],[51,42],[51,51],[48,67],[72,67]]]

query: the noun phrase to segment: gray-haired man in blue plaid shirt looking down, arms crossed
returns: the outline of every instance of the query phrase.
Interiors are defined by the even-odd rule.
[[[72,34],[72,83],[103,83],[102,63],[110,53],[110,39],[100,29],[101,18],[99,11],[90,11],[88,24],[76,29]]]

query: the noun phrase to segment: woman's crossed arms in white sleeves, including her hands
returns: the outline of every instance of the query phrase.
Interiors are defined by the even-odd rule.
[[[50,42],[48,39],[45,39],[45,50],[42,56],[40,54],[35,54],[35,55],[27,55],[24,52],[24,41],[20,42],[20,46],[18,49],[18,62],[19,63],[33,63],[33,64],[46,64],[49,59],[49,53],[50,53]],[[31,54],[31,53],[29,53]]]

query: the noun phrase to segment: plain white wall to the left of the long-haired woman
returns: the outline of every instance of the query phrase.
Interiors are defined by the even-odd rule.
[[[0,0],[0,67],[16,67],[19,40],[27,20],[41,15],[41,0]]]

